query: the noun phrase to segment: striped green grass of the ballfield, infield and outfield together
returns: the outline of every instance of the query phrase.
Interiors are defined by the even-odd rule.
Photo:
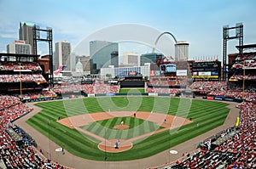
[[[167,130],[156,133],[148,138],[137,140],[133,143],[132,149],[125,152],[107,153],[107,161],[129,161],[155,155],[165,149],[183,143],[189,138],[194,138],[212,128],[218,127],[224,123],[225,118],[230,111],[227,108],[228,104],[224,102],[197,99],[171,99],[166,97],[70,99],[65,101],[42,102],[36,105],[43,108],[43,110],[26,121],[28,124],[36,128],[39,132],[42,132],[56,144],[59,144],[70,153],[73,153],[73,155],[96,161],[104,161],[106,155],[105,152],[97,149],[97,145],[100,141],[95,138],[90,138],[84,133],[77,132],[74,129],[62,126],[56,122],[59,117],[64,118],[67,116],[102,111],[108,112],[108,110],[137,110],[148,112],[153,110],[158,113],[178,115],[187,119],[191,118],[192,121],[194,121],[186,126],[180,127],[178,130]],[[127,121],[134,120],[132,117],[126,118]],[[111,120],[97,121],[82,128],[90,132],[95,131],[95,133],[99,133],[103,138],[105,135],[104,132],[106,132],[106,127],[113,127],[113,121],[119,123],[121,119],[122,118],[118,117]],[[196,123],[199,123],[200,126],[196,127]],[[95,128],[93,126],[104,127]],[[120,135],[120,137],[133,138],[145,132],[156,130],[155,124],[150,121],[134,120],[132,128],[137,127],[140,128],[139,131],[134,130],[133,132],[128,132],[129,130],[127,130],[127,133],[122,136]],[[104,128],[105,131],[102,131]],[[107,138],[116,138],[119,136],[119,132],[108,133],[105,136]]]

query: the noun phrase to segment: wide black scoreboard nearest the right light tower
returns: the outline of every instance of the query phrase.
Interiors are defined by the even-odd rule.
[[[195,62],[192,64],[192,78],[218,79],[221,74],[221,62]]]

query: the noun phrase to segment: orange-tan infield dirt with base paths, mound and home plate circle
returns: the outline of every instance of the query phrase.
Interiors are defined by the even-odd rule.
[[[124,116],[132,116],[134,118],[143,119],[144,121],[153,121],[156,122],[158,126],[162,127],[159,130],[154,132],[149,132],[138,136],[136,138],[130,139],[106,139],[102,138],[92,132],[88,132],[83,130],[80,127],[86,126],[93,121],[102,121],[106,119],[111,119],[113,117],[124,117]],[[146,138],[156,132],[163,132],[165,130],[169,130],[175,127],[181,127],[183,125],[189,124],[192,121],[188,119],[178,117],[175,115],[166,115],[162,113],[152,113],[152,112],[141,112],[141,111],[111,111],[111,112],[99,112],[99,113],[92,113],[92,114],[84,114],[84,115],[75,115],[67,118],[63,118],[58,120],[57,122],[61,123],[70,128],[74,128],[79,130],[79,132],[84,132],[87,135],[90,135],[93,138],[96,138],[101,141],[98,144],[98,149],[106,152],[118,153],[128,149],[131,149],[133,144],[132,142],[136,141],[137,139]],[[119,124],[114,126],[114,129],[117,130],[125,130],[129,129],[128,124]]]

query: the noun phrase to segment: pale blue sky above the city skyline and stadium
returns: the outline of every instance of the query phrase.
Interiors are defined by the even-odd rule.
[[[72,43],[73,49],[102,29],[124,24],[171,32],[177,41],[189,42],[189,59],[214,56],[222,60],[224,25],[242,23],[244,44],[256,43],[254,0],[0,0],[0,7],[0,52],[5,52],[7,44],[19,38],[20,21],[32,22],[42,28],[52,27],[54,42],[66,40]],[[126,33],[129,35],[134,31],[131,28]],[[143,34],[143,31],[139,33]],[[143,36],[152,35],[145,31]],[[166,53],[172,55],[172,37],[163,37],[163,41],[165,38],[169,42],[160,43],[171,48],[172,51]],[[151,38],[152,43],[154,39],[156,37]],[[237,44],[236,40],[230,41],[228,53],[236,52]],[[41,46],[38,50],[47,53],[46,44]],[[142,50],[142,45],[137,43],[133,43],[132,48],[127,47],[129,45],[121,47],[123,52],[151,52],[146,48]]]

